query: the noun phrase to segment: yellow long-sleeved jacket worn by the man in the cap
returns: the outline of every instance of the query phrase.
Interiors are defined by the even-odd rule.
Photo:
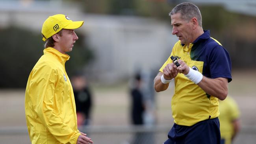
[[[69,55],[46,48],[26,86],[25,113],[32,144],[76,144],[76,105],[65,71]]]

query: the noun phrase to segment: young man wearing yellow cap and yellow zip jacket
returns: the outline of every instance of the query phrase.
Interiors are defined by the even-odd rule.
[[[76,105],[65,62],[78,37],[65,15],[48,17],[42,27],[44,55],[33,67],[25,94],[25,113],[32,144],[89,144],[91,138],[77,128]]]

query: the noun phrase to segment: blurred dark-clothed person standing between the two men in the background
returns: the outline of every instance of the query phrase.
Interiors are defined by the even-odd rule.
[[[145,106],[143,103],[143,94],[141,92],[141,76],[140,74],[135,75],[134,88],[131,89],[132,96],[132,124],[141,125],[143,124],[143,113]]]

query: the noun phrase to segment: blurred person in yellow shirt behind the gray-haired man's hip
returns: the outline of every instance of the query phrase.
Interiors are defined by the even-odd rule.
[[[219,100],[219,112],[221,144],[232,144],[240,130],[240,113],[236,101],[230,96]]]

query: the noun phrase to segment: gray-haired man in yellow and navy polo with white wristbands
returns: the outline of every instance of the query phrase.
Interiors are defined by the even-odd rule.
[[[171,101],[174,125],[164,144],[220,144],[219,102],[232,80],[231,61],[223,46],[202,29],[197,6],[178,4],[171,13],[172,34],[179,39],[154,79],[157,92],[166,90],[174,79]],[[176,62],[176,61],[175,61]]]

